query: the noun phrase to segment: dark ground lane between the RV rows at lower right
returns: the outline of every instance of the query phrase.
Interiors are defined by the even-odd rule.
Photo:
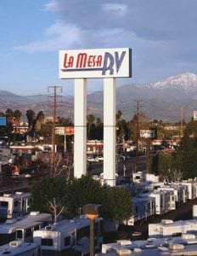
[[[191,219],[193,205],[197,205],[197,198],[195,198],[192,201],[188,201],[187,203],[184,203],[174,211],[167,212],[162,216],[155,215],[153,217],[148,218],[147,221],[138,222],[134,226],[120,225],[117,232],[111,232],[104,236],[104,243],[113,242],[120,239],[128,239],[128,240],[147,239],[150,223],[160,223],[161,219],[164,219],[164,218],[172,219],[172,220]]]

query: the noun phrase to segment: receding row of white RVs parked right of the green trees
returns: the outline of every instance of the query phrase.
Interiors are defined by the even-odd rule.
[[[134,225],[150,216],[163,215],[176,210],[183,203],[197,198],[197,180],[189,179],[180,183],[149,182],[143,172],[135,173],[137,196],[132,197],[132,216],[125,221]]]

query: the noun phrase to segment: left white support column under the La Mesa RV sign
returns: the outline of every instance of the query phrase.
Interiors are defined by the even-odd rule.
[[[75,79],[74,177],[87,172],[87,79]]]

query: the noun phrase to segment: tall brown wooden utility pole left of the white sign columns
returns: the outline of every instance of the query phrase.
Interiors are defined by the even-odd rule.
[[[50,105],[51,107],[53,107],[53,126],[52,126],[52,158],[51,158],[51,163],[52,163],[52,168],[53,168],[53,172],[54,172],[54,168],[55,168],[55,144],[56,144],[56,140],[55,140],[55,124],[56,124],[56,119],[57,119],[57,98],[59,96],[57,96],[57,90],[60,89],[60,92],[62,92],[62,88],[61,86],[48,86],[48,92],[50,92],[50,90],[53,90],[53,95],[48,96],[48,97],[52,97],[53,98],[53,104]]]

